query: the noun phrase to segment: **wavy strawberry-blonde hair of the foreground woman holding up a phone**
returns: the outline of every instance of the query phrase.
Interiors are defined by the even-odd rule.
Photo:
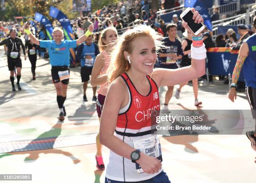
[[[126,31],[118,38],[118,41],[111,52],[110,65],[107,70],[109,84],[131,68],[131,64],[125,59],[124,52],[132,53],[132,43],[136,38],[140,37],[153,38],[157,52],[161,48],[164,48],[164,43],[161,42],[163,37],[150,26],[138,25],[135,28]]]

